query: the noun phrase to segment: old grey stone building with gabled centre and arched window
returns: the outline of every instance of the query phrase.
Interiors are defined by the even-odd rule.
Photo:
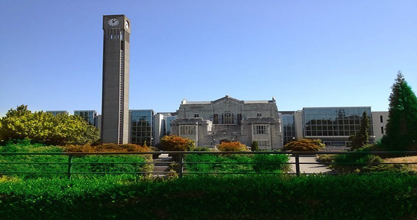
[[[260,150],[283,146],[274,97],[267,101],[241,101],[228,95],[208,102],[184,99],[177,110],[177,119],[171,122],[171,134],[193,139],[200,147],[230,141],[240,141],[247,146],[257,141]]]

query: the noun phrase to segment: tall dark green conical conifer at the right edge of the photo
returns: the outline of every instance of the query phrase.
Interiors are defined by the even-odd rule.
[[[389,150],[416,150],[417,97],[401,71],[391,87],[386,133],[381,140]]]

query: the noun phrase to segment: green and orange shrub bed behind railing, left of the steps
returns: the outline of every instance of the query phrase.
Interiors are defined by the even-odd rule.
[[[97,147],[97,148],[95,148]],[[44,146],[31,144],[24,140],[19,143],[8,143],[0,147],[1,153],[62,153],[62,152],[138,152],[148,151],[138,145],[113,145],[99,146]],[[90,162],[134,162],[132,164],[73,164],[73,172],[152,172],[153,164],[139,164],[136,162],[152,161],[151,155],[86,155],[74,156],[75,163]],[[62,164],[1,164],[0,173],[7,172],[59,172],[66,173],[68,170],[67,155],[0,155],[0,162],[31,162],[31,163],[62,163]],[[64,174],[8,174],[22,178],[53,177]],[[95,174],[88,174],[92,176]],[[73,175],[83,176],[83,175]]]

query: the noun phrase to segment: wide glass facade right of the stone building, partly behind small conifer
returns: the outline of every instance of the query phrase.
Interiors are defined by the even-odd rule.
[[[303,108],[303,137],[319,138],[328,146],[349,146],[348,138],[359,131],[364,111],[370,119],[369,142],[373,143],[370,107]]]

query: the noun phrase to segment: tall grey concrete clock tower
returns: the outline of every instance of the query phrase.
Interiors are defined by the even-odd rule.
[[[102,143],[126,144],[129,135],[130,20],[103,16]]]

